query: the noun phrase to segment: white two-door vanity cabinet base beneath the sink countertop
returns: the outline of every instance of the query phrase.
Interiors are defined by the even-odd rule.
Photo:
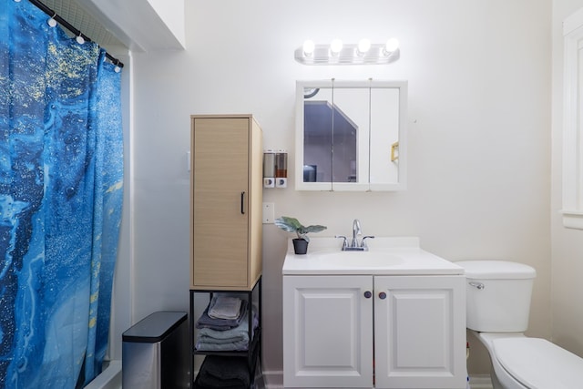
[[[465,388],[463,275],[284,275],[283,384]]]

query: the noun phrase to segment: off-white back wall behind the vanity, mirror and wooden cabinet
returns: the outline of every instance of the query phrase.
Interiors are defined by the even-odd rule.
[[[133,57],[134,320],[188,310],[189,115],[253,113],[265,148],[293,152],[298,79],[409,81],[409,188],[265,189],[276,216],[377,236],[419,236],[452,261],[507,259],[538,276],[529,333],[550,337],[550,0],[186,2],[187,49]],[[311,37],[401,42],[384,67],[305,67]],[[289,160],[293,166],[293,156]],[[289,171],[293,177],[293,169]],[[229,237],[225,237],[228,240]],[[264,370],[281,370],[281,264],[288,236],[264,226]],[[471,373],[486,373],[472,342]]]

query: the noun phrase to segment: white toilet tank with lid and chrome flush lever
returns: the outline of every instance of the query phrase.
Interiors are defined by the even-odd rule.
[[[466,327],[481,333],[523,333],[537,271],[511,261],[459,261],[465,269]]]

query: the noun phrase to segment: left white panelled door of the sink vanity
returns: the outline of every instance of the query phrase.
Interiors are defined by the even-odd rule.
[[[286,388],[373,387],[373,298],[366,292],[373,292],[372,276],[283,277]]]

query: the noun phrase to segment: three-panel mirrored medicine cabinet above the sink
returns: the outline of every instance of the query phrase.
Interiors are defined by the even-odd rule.
[[[405,189],[406,81],[298,81],[297,190]]]

